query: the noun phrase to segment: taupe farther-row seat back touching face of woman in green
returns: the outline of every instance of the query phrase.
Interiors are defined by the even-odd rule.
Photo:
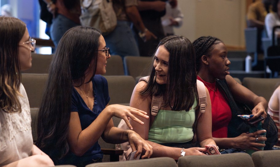
[[[133,78],[149,75],[152,57],[125,56],[123,61],[126,75]]]

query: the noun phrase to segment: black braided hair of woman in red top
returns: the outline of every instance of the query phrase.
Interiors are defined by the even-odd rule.
[[[200,58],[203,55],[209,55],[212,51],[213,45],[222,42],[219,38],[208,36],[208,37],[199,37],[193,41],[192,45],[196,52],[196,71],[200,68]]]

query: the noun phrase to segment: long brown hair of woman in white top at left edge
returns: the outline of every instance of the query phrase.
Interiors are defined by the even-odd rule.
[[[15,17],[0,16],[0,108],[4,112],[21,112],[21,69],[18,59],[19,41],[26,25]]]

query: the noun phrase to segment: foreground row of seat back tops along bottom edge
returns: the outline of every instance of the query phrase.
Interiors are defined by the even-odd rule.
[[[228,167],[228,166],[246,166],[246,167],[276,167],[280,166],[278,157],[280,150],[257,151],[250,157],[247,153],[231,153],[221,155],[186,155],[180,157],[178,163],[170,157],[158,157],[133,161],[122,162],[103,162],[93,163],[86,167]],[[60,167],[75,167],[73,165],[58,165]]]

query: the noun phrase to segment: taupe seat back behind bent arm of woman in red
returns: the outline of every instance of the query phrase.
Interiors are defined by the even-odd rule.
[[[243,78],[243,86],[254,92],[258,96],[262,96],[266,101],[270,100],[271,95],[280,82],[279,78]]]

